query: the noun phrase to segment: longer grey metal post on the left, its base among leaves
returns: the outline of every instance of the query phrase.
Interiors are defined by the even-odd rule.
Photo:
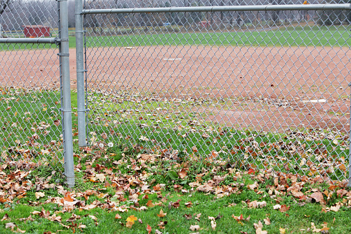
[[[59,1],[60,9],[60,53],[62,80],[63,145],[65,148],[65,175],[68,187],[74,186],[74,162],[72,140],[72,108],[70,97],[70,55],[68,41],[67,0]]]

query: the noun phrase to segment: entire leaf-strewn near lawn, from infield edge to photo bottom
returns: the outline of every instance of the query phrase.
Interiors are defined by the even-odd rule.
[[[60,119],[59,104],[49,101],[59,100],[59,92],[0,93],[0,122],[6,128],[1,136],[6,141],[1,146],[0,233],[351,231],[351,191],[345,180],[349,151],[340,149],[348,144],[347,136],[319,130],[260,135],[210,128],[206,122],[192,125],[197,113],[153,115],[159,108],[172,110],[172,103],[136,104],[123,98],[112,106],[115,100],[97,93],[95,101],[103,97],[105,102],[88,106],[96,118],[89,123],[94,142],[84,148],[74,142],[76,186],[70,189],[61,162],[50,167],[62,148],[61,128],[54,124]],[[126,113],[142,107],[146,112]],[[75,114],[72,131],[77,137]],[[111,122],[115,125],[106,125]],[[288,146],[303,146],[304,154],[292,153]],[[339,182],[319,177],[332,175],[331,170]]]

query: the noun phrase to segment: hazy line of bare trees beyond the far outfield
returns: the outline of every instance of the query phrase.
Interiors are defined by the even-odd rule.
[[[188,6],[245,6],[245,5],[283,5],[299,4],[302,0],[86,0],[84,6],[90,8],[152,8],[152,7],[188,7]],[[308,3],[350,3],[351,0],[311,0]],[[0,0],[0,29],[21,30],[24,25],[44,25],[57,28],[57,2],[54,0]],[[254,20],[280,23],[283,21],[317,19],[319,25],[349,24],[350,12],[327,10],[323,12],[181,12],[166,14],[138,14],[137,17],[117,15],[89,15],[86,23],[91,27],[104,25],[161,26],[162,23],[186,26],[199,21],[208,21],[209,25],[225,22],[229,25],[241,25]],[[68,1],[69,27],[74,28],[74,0]],[[132,20],[131,20],[132,19]],[[0,34],[1,35],[1,34]]]

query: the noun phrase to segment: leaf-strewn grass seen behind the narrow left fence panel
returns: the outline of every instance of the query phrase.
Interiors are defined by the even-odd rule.
[[[76,104],[73,107],[77,107],[77,94],[74,92],[72,103]],[[3,160],[31,160],[62,170],[60,108],[59,90],[0,88]],[[72,115],[72,122],[77,124],[75,115]]]

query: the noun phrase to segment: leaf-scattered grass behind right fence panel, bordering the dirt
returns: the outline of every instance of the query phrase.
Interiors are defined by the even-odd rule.
[[[90,144],[119,144],[127,140],[130,145],[137,144],[157,154],[172,154],[177,150],[179,157],[218,156],[228,160],[232,167],[248,169],[257,166],[308,177],[323,173],[332,179],[347,177],[349,150],[345,149],[348,146],[345,133],[328,129],[264,133],[221,126],[205,121],[206,113],[192,112],[192,106],[206,108],[207,105],[192,100],[179,104],[143,95],[129,97],[127,92],[114,95],[94,93],[89,99]],[[325,137],[315,137],[319,135]],[[332,137],[328,139],[328,135]],[[340,146],[334,144],[334,138]],[[321,164],[325,157],[336,166],[335,170],[328,170],[329,164]]]

